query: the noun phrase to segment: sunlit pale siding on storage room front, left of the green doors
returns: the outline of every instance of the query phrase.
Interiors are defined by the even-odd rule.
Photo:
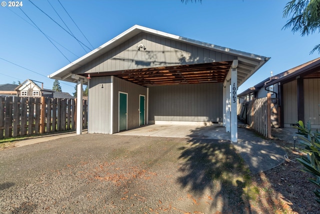
[[[88,133],[111,134],[111,78],[94,77],[89,81]]]

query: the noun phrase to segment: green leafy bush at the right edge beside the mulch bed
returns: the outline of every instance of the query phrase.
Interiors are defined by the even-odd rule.
[[[310,122],[304,126],[303,122],[299,121],[297,129],[300,134],[299,142],[305,146],[307,154],[296,159],[303,166],[302,171],[314,175],[314,178],[308,178],[308,180],[320,187],[320,133],[318,130],[311,130]],[[316,196],[315,200],[320,203],[320,189],[315,189],[313,192]]]

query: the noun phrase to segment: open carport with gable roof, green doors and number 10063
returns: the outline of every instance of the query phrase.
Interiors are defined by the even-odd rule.
[[[236,142],[237,87],[268,60],[136,25],[48,77],[76,82],[78,100],[88,85],[89,133],[219,124]]]

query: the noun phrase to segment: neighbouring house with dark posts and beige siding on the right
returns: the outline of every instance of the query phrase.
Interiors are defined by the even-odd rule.
[[[267,78],[237,96],[240,102],[249,101],[265,97],[269,91],[276,126],[291,127],[302,120],[320,128],[320,58]]]

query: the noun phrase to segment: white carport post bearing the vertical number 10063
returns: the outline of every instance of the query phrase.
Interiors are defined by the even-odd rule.
[[[237,65],[236,65],[237,66]],[[237,69],[231,68],[231,141],[236,143],[238,140],[238,122],[236,116],[237,105]],[[234,68],[235,67],[235,68]]]

